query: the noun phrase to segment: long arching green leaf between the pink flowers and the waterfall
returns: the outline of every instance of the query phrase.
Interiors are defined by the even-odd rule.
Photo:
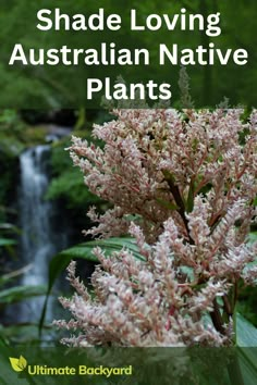
[[[100,247],[105,251],[106,257],[110,257],[112,252],[119,252],[122,248],[126,248],[136,259],[145,261],[144,257],[138,251],[135,239],[130,237],[90,240],[61,251],[59,254],[52,258],[49,264],[48,290],[39,322],[39,331],[41,331],[44,325],[48,298],[57,277],[65,270],[65,268],[73,259],[85,259],[87,261],[98,263],[98,259],[93,253],[93,249],[95,247]]]

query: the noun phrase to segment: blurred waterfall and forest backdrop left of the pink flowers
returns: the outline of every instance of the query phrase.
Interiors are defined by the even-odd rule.
[[[0,335],[14,344],[38,343],[49,278],[58,252],[85,241],[86,213],[107,203],[93,196],[65,150],[71,135],[89,139],[93,122],[110,115],[97,110],[0,111]],[[88,280],[94,263],[79,261]],[[50,326],[62,318],[60,295],[69,296],[64,268],[54,281],[40,341],[56,340]]]

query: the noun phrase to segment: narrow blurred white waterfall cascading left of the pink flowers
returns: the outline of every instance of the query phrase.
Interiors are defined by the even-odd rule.
[[[45,200],[49,185],[49,146],[37,146],[20,158],[21,259],[23,265],[32,263],[32,269],[22,278],[22,285],[47,285],[49,261],[66,246],[63,227],[56,228],[57,222],[62,221],[58,219],[58,210],[53,202]],[[38,321],[42,302],[42,297],[21,302],[19,321]],[[53,319],[52,308],[53,303],[49,303],[49,321]]]

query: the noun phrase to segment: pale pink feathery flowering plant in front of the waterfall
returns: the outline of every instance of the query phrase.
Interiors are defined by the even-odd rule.
[[[89,211],[94,237],[130,236],[91,276],[94,294],[61,298],[78,333],[71,346],[231,346],[238,285],[255,285],[257,111],[115,109],[96,125],[102,148],[73,137],[71,157],[89,190],[111,203]],[[101,240],[99,240],[99,245]]]

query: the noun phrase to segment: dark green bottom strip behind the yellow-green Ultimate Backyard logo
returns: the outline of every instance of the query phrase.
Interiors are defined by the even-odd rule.
[[[254,385],[256,348],[1,348],[0,384]],[[131,376],[28,375],[14,372],[9,357],[47,367],[127,367]]]

